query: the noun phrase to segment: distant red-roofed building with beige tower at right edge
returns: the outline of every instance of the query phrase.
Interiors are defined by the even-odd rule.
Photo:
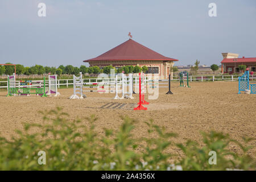
[[[221,73],[239,73],[238,65],[246,65],[250,71],[256,71],[256,57],[241,57],[238,58],[237,53],[222,53],[223,60],[221,61]]]

